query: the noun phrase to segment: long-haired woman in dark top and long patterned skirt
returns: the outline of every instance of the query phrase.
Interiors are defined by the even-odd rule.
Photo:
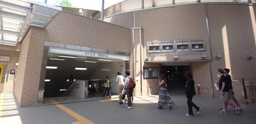
[[[159,98],[158,98],[158,109],[163,109],[163,106],[169,106],[169,109],[172,109],[172,106],[174,106],[174,101],[172,101],[172,98],[170,97],[168,91],[167,91],[167,85],[168,82],[166,80],[166,77],[164,74],[160,75],[160,80],[159,80]]]

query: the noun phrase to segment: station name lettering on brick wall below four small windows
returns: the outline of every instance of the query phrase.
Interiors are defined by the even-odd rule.
[[[201,55],[202,52],[172,52],[172,53],[151,53],[151,56],[182,56],[182,55]]]

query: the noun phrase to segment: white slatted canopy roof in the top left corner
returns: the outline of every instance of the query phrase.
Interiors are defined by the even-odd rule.
[[[61,11],[34,0],[0,0],[0,44],[16,46],[30,26],[45,28]]]

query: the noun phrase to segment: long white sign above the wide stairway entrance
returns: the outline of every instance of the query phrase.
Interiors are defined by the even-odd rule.
[[[66,54],[73,56],[85,56],[85,57],[98,57],[104,59],[116,59],[116,60],[130,60],[130,56],[122,56],[116,54],[106,54],[106,53],[95,53],[91,51],[81,51],[81,50],[70,50],[63,48],[53,48],[49,47],[49,53],[54,54]]]

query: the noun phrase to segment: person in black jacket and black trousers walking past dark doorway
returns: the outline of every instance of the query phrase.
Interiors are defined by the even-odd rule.
[[[201,111],[201,108],[192,102],[192,98],[194,95],[196,95],[196,93],[195,93],[195,82],[192,79],[193,76],[190,73],[190,71],[185,72],[185,77],[188,78],[186,82],[186,97],[187,97],[187,106],[189,107],[189,113],[186,113],[186,116],[194,116],[192,107],[197,109],[197,114],[199,114],[199,112]]]

